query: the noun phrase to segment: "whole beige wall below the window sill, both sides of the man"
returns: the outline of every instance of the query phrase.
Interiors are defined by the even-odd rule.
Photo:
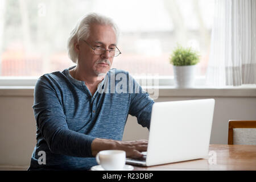
[[[256,97],[159,97],[158,101],[215,98],[210,143],[226,144],[229,119],[256,119]],[[32,110],[32,92],[0,92],[0,167],[29,166],[36,144],[36,122]],[[147,139],[148,131],[129,116],[123,140]]]

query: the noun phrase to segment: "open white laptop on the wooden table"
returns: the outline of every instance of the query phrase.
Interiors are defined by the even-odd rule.
[[[208,156],[214,99],[155,102],[147,151],[126,164],[155,166]]]

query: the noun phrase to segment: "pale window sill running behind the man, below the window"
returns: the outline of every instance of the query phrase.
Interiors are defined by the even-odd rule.
[[[146,90],[152,93],[157,92],[157,88],[159,88],[159,97],[256,97],[255,85],[225,88],[198,86],[188,89],[177,89],[174,86],[159,86],[146,88]],[[5,96],[34,97],[34,86],[0,86],[0,97]]]

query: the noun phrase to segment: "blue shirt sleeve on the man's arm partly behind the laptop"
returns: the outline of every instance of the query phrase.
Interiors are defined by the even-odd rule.
[[[133,77],[129,75],[129,79],[132,80],[130,81],[130,84],[133,83],[134,88],[134,93],[131,93],[129,114],[137,117],[138,123],[143,127],[147,127],[149,130],[152,105],[154,104],[154,101]]]

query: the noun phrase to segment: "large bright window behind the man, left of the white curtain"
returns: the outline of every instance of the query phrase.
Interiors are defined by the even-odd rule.
[[[177,43],[201,52],[198,76],[209,59],[213,0],[3,0],[0,2],[0,76],[41,76],[71,67],[67,39],[77,20],[96,12],[121,30],[112,68],[134,76],[171,76]]]

